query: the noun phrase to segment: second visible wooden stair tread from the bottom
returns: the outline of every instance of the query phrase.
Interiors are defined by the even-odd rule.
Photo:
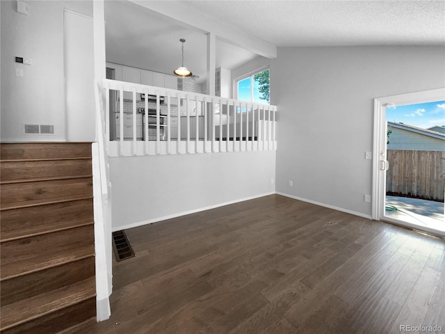
[[[58,253],[48,253],[40,255],[38,258],[31,257],[28,259],[1,264],[0,282],[15,278],[17,276],[26,275],[42,269],[56,267],[61,264],[80,260],[84,257],[94,256],[94,245],[81,246],[76,250],[68,249]]]

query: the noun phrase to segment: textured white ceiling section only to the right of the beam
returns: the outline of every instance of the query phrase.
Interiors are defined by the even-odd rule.
[[[278,47],[444,45],[445,1],[187,1]]]

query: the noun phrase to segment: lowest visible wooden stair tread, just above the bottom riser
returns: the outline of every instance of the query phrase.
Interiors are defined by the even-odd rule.
[[[1,307],[1,331],[67,308],[96,294],[95,277]]]

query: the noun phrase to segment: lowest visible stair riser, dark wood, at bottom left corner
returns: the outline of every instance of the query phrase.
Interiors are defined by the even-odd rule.
[[[49,315],[1,331],[1,334],[56,334],[95,316],[96,298],[92,297],[68,308],[56,310]]]

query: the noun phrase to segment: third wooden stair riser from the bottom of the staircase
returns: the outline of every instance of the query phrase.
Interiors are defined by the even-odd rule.
[[[87,225],[70,230],[41,234],[35,237],[17,239],[13,241],[2,242],[1,264],[17,262],[35,258],[46,254],[57,254],[64,250],[76,249],[81,246],[91,246],[92,254],[94,254],[94,226]],[[4,278],[8,271],[3,268],[1,277]]]

